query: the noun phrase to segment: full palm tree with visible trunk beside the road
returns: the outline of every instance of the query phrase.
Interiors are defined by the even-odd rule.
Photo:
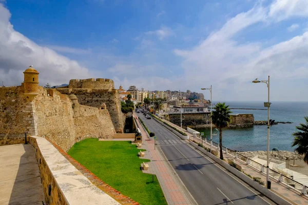
[[[220,148],[220,159],[223,159],[222,155],[222,129],[227,127],[230,119],[229,106],[226,106],[225,103],[216,104],[214,111],[211,113],[211,120],[213,124],[219,129],[219,148]]]

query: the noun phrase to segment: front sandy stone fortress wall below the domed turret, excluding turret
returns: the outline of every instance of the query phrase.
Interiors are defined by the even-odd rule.
[[[65,151],[85,138],[113,137],[108,110],[72,104],[55,89],[38,87],[37,93],[29,102],[21,86],[0,87],[0,145],[23,143],[25,132],[47,137]]]

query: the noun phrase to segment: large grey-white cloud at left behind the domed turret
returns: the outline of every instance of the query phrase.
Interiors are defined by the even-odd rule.
[[[23,71],[33,65],[40,72],[41,85],[61,85],[73,78],[87,78],[87,68],[55,51],[38,46],[10,23],[11,14],[0,4],[0,80],[6,86],[20,85]]]

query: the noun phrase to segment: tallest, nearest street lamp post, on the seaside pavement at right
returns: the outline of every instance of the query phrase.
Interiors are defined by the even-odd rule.
[[[267,80],[258,80],[256,78],[253,80],[253,83],[265,83],[267,85],[267,103],[264,103],[264,107],[267,107],[267,158],[266,158],[266,181],[267,181],[267,189],[271,189],[270,181],[269,181],[269,107],[271,103],[269,103],[269,75]]]

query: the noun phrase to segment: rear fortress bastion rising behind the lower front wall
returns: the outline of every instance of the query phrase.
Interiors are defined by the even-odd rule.
[[[74,94],[81,105],[99,108],[105,103],[109,111],[115,132],[123,133],[125,117],[121,111],[119,91],[114,89],[110,79],[94,78],[73,79],[69,81],[68,88],[58,88],[62,94]]]

